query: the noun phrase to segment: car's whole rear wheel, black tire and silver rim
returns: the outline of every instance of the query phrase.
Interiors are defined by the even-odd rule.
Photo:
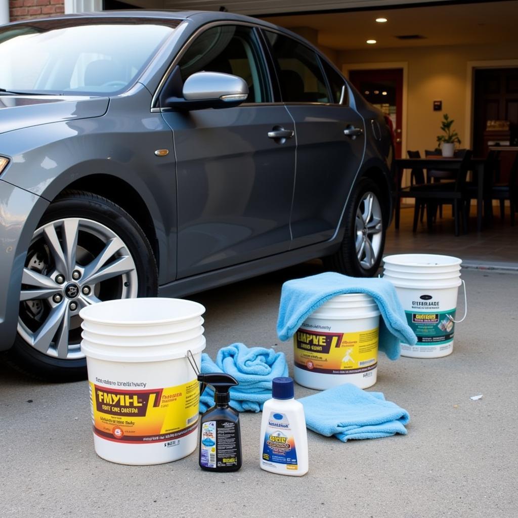
[[[351,277],[376,275],[385,246],[388,210],[378,185],[361,178],[344,213],[344,235],[340,248],[324,258],[329,270]]]

